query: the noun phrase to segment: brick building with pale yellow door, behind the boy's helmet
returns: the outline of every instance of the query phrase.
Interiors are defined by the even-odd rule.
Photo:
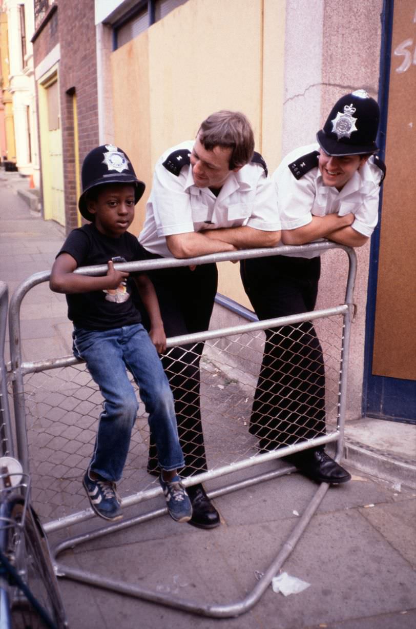
[[[43,214],[80,225],[80,161],[98,142],[94,3],[35,1]]]

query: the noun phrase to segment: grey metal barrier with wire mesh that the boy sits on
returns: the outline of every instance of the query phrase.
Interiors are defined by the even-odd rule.
[[[168,339],[168,350],[172,351],[183,344],[204,342],[204,353],[200,362],[200,406],[204,440],[209,469],[195,473],[185,479],[185,486],[209,481],[217,477],[231,475],[255,466],[269,464],[266,471],[254,476],[239,478],[226,486],[209,493],[211,498],[252,486],[258,482],[282,476],[295,468],[285,464],[270,470],[270,461],[280,459],[316,445],[334,443],[336,460],[342,456],[344,417],[346,411],[346,384],[348,370],[348,350],[351,320],[353,318],[353,288],[356,275],[356,257],[354,250],[336,243],[320,242],[302,247],[279,247],[244,250],[233,253],[216,253],[199,258],[177,260],[159,259],[143,262],[130,262],[116,265],[116,268],[134,272],[138,270],[180,267],[192,264],[240,260],[253,257],[282,255],[301,250],[319,250],[320,253],[339,248],[348,255],[349,272],[346,283],[344,303],[332,308],[320,309],[302,315],[280,317],[267,321],[256,321],[219,330],[190,334]],[[86,275],[105,273],[106,265],[84,267],[76,272]],[[53,357],[36,362],[22,360],[22,342],[20,334],[20,306],[23,298],[32,287],[49,279],[50,273],[37,273],[23,282],[9,306],[9,338],[11,345],[11,369],[9,380],[13,384],[13,406],[16,421],[16,443],[18,457],[25,472],[31,467],[31,501],[38,511],[47,533],[77,525],[94,516],[92,509],[85,509],[87,498],[82,489],[82,476],[89,463],[97,419],[101,412],[102,398],[97,386],[92,382],[89,372],[82,362],[72,356]],[[258,448],[258,439],[253,430],[249,432],[251,406],[255,397],[256,383],[263,359],[265,331],[272,335],[273,342],[279,338],[282,326],[285,330],[293,329],[297,342],[302,338],[305,322],[312,322],[322,346],[325,363],[324,377],[324,415],[327,431],[317,431],[314,438],[292,443],[283,440],[276,450]],[[269,339],[270,340],[270,339]],[[276,344],[280,341],[277,340]],[[296,347],[293,345],[293,347]],[[283,348],[290,352],[290,347]],[[296,360],[297,350],[293,350]],[[289,387],[288,396],[297,399],[299,383],[291,384],[286,374],[282,387]],[[288,389],[285,389],[288,391]],[[301,391],[300,391],[301,392]],[[300,393],[299,393],[300,394]],[[285,397],[285,396],[283,396]],[[139,416],[131,439],[128,461],[124,468],[121,489],[123,508],[145,503],[146,500],[161,496],[157,479],[146,472],[149,432],[146,415],[140,405]],[[218,412],[218,409],[220,412]],[[322,412],[322,409],[320,409]],[[263,427],[268,420],[262,420]],[[252,428],[252,426],[251,426]],[[300,426],[302,428],[302,426]],[[255,430],[254,430],[255,432]],[[262,433],[263,439],[265,433]],[[267,435],[266,435],[267,438]],[[138,491],[138,487],[140,491]],[[123,530],[129,526],[148,521],[167,513],[165,507],[141,513],[133,518],[112,523],[97,530],[83,532],[76,537],[64,540],[54,550],[56,569],[60,577],[94,584],[136,598],[153,601],[178,610],[185,610],[204,616],[226,618],[238,616],[250,610],[260,599],[271,579],[276,575],[283,562],[292,552],[301,537],[310,518],[314,515],[320,501],[328,489],[321,484],[304,513],[297,520],[297,525],[278,552],[275,560],[264,571],[264,576],[256,582],[252,591],[239,601],[231,604],[202,604],[195,601],[178,599],[166,593],[146,589],[145,587],[126,584],[106,579],[97,574],[80,571],[64,565],[57,560],[67,548],[74,548],[102,535]]]

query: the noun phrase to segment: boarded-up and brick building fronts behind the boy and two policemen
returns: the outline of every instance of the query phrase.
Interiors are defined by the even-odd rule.
[[[50,201],[48,190],[60,182],[63,211],[55,220],[67,231],[80,224],[76,209],[80,164],[94,145],[112,142],[126,150],[138,176],[146,182],[146,194],[131,227],[138,233],[159,155],[194,137],[200,121],[217,109],[241,109],[248,115],[255,130],[256,150],[273,172],[292,148],[314,142],[316,131],[339,96],[363,88],[381,104],[383,157],[385,147],[389,147],[388,134],[392,148],[399,124],[396,109],[388,106],[390,85],[402,94],[398,102],[408,113],[408,136],[415,133],[412,104],[405,96],[415,93],[414,11],[412,0],[35,0],[38,21],[33,46],[45,218],[55,218],[53,208],[58,204]],[[390,58],[395,63],[390,64]],[[55,83],[53,96],[48,90]],[[48,112],[54,107],[60,124],[55,136],[57,129],[47,123]],[[412,142],[410,137],[407,140]],[[60,152],[62,179],[47,175],[56,170],[52,167],[53,152],[55,157]],[[386,162],[388,169],[397,162],[389,159],[388,150]],[[407,181],[412,179],[408,175]],[[45,182],[47,177],[50,181]],[[385,194],[388,189],[390,194],[389,181],[390,175]],[[386,365],[389,353],[380,351],[393,316],[391,293],[386,292],[379,300],[383,305],[381,310],[378,307],[378,315],[375,312],[380,278],[388,277],[389,286],[403,286],[403,277],[410,282],[405,260],[393,278],[385,275],[385,269],[392,268],[389,247],[400,259],[397,229],[385,228],[389,220],[400,225],[402,209],[392,206],[397,194],[400,192],[392,192],[388,206],[381,205],[380,225],[372,245],[357,250],[358,308],[351,347],[349,418],[365,412],[407,419],[413,405],[414,419],[416,352],[410,323],[416,308],[403,291],[395,294],[394,306],[400,306],[403,332],[388,334],[394,339],[390,355],[400,347],[393,371]],[[406,235],[400,231],[402,240],[412,232],[407,201],[405,208],[403,220],[408,229]],[[383,250],[389,252],[381,261],[380,234]],[[400,244],[403,251],[411,248],[408,240]],[[248,307],[235,265],[222,264],[220,276],[221,293]],[[343,301],[345,276],[343,253],[328,252],[323,260],[318,307]],[[381,311],[386,315],[384,327],[380,327]],[[234,315],[221,312],[220,316],[229,321]],[[381,332],[375,334],[375,329]],[[408,369],[399,369],[401,364]],[[402,409],[398,401],[389,406],[385,395],[388,387],[398,386],[407,400]]]

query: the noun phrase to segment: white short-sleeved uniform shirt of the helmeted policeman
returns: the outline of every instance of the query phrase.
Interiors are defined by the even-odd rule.
[[[271,176],[276,186],[282,230],[308,225],[312,216],[331,213],[344,216],[353,213],[355,218],[351,227],[364,236],[371,236],[378,221],[378,199],[383,176],[380,168],[374,164],[373,157],[354,172],[339,192],[334,186],[324,186],[318,167],[312,168],[300,179],[296,179],[288,168],[288,164],[316,150],[319,151],[317,143],[296,148],[282,160]],[[309,258],[320,253],[291,255]]]

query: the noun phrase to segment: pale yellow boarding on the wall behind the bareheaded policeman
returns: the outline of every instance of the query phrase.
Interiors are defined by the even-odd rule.
[[[194,138],[218,109],[251,121],[256,150],[280,160],[284,0],[189,0],[112,53],[116,143],[147,189],[131,231],[143,224],[156,160]],[[219,292],[248,304],[238,265],[220,265]]]

